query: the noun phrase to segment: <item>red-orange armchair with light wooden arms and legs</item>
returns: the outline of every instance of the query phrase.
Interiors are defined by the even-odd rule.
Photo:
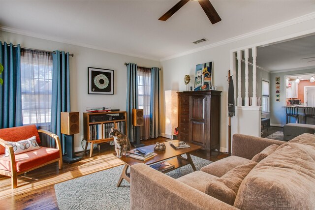
[[[45,133],[56,141],[57,149],[40,147],[38,150],[14,154],[13,147],[7,143],[17,142],[36,136],[36,142],[40,145],[39,133]],[[9,156],[4,156],[5,148],[9,150]],[[47,130],[37,130],[35,125],[0,129],[0,174],[11,177],[12,188],[17,187],[17,176],[42,167],[44,165],[59,162],[59,169],[63,168],[63,156],[59,136]]]

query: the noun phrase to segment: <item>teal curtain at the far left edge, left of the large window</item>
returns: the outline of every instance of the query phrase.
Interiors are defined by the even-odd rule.
[[[0,63],[3,72],[0,78],[0,128],[23,125],[21,96],[21,49],[0,41]]]

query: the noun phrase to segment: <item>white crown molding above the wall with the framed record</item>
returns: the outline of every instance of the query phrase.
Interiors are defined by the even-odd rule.
[[[105,51],[105,52],[109,52],[109,53],[120,54],[120,55],[124,55],[124,56],[132,56],[132,57],[136,57],[136,58],[140,58],[140,59],[147,59],[147,60],[153,60],[153,61],[158,61],[158,62],[160,61],[160,59],[158,59],[158,58],[151,58],[151,57],[146,57],[146,56],[141,56],[141,55],[128,54],[128,53],[124,53],[121,51],[113,51],[113,50],[109,50],[109,49],[95,46],[95,45],[91,45],[91,44],[76,42],[76,41],[68,40],[68,39],[57,38],[54,36],[49,36],[49,35],[45,35],[45,34],[41,34],[41,33],[34,33],[34,32],[27,31],[27,30],[19,30],[19,29],[5,27],[5,26],[1,26],[1,25],[0,25],[0,30],[5,31],[5,32],[10,32],[10,33],[16,33],[16,34],[20,34],[20,35],[45,39],[45,40],[49,40],[49,41],[55,41],[55,42],[60,42],[60,43],[64,43],[64,44],[70,44],[70,45]]]

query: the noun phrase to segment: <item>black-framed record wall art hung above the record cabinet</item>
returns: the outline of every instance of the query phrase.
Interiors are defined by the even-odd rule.
[[[88,67],[89,94],[114,94],[114,70]]]

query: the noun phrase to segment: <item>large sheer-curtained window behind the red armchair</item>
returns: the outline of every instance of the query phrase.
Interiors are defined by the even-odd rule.
[[[23,124],[49,126],[52,96],[52,53],[21,49]]]

